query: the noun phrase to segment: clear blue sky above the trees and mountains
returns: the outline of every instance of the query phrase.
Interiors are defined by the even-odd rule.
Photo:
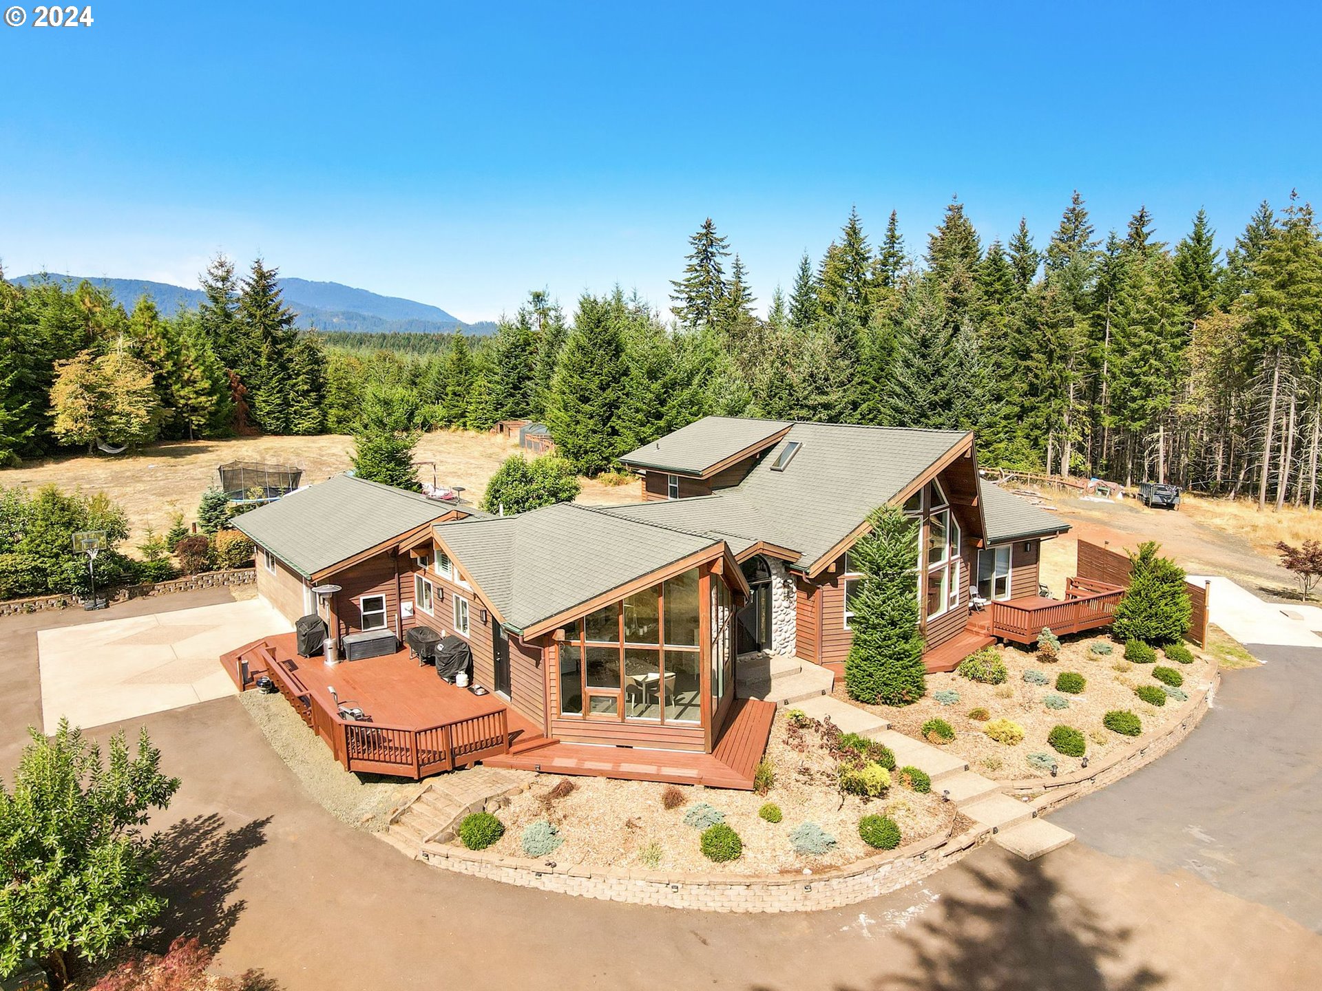
[[[260,252],[479,320],[668,305],[707,215],[760,305],[851,205],[921,250],[958,194],[1040,246],[1079,188],[1101,230],[1206,206],[1228,243],[1322,200],[1322,15],[1263,7],[94,3],[0,26],[0,260],[192,285]]]

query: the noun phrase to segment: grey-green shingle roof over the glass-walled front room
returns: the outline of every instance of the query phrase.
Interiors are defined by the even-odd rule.
[[[572,503],[438,523],[435,531],[516,630],[720,542]]]

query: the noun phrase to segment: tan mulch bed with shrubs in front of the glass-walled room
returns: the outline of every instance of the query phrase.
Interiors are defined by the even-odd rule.
[[[772,728],[767,754],[776,768],[775,785],[765,795],[701,786],[662,785],[644,781],[538,774],[530,790],[510,799],[498,818],[505,835],[490,847],[506,856],[527,856],[524,828],[549,821],[559,830],[562,846],[546,856],[559,865],[582,864],[702,873],[769,875],[801,873],[849,864],[879,851],[859,839],[858,821],[867,814],[890,815],[900,827],[902,844],[948,828],[953,805],[932,794],[916,794],[899,785],[880,798],[841,795],[836,786],[836,761],[821,747],[816,728],[795,733],[784,716]],[[549,793],[562,781],[572,790],[562,798]],[[563,786],[562,786],[563,788]],[[662,806],[668,788],[683,795],[674,809]],[[699,802],[724,813],[724,822],[743,840],[738,860],[713,863],[699,848],[702,830],[686,826],[685,814]],[[783,819],[769,823],[758,817],[767,802],[780,806]],[[814,822],[837,840],[820,856],[796,854],[789,834],[804,822]]]

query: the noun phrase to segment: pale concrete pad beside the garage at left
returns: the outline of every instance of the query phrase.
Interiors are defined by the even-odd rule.
[[[61,717],[104,725],[235,695],[219,655],[291,629],[249,599],[38,630],[42,727],[53,733]]]

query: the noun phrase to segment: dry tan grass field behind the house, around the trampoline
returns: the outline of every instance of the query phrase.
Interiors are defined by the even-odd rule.
[[[192,522],[202,492],[217,481],[215,469],[226,461],[264,461],[296,465],[304,484],[325,481],[346,470],[353,437],[234,437],[155,444],[137,455],[94,455],[49,459],[21,468],[0,470],[0,485],[36,489],[54,482],[62,489],[86,493],[104,492],[128,513],[137,544],[147,529],[164,532],[171,517],[180,511]],[[514,441],[472,431],[435,431],[418,443],[419,478],[435,478],[442,485],[464,486],[464,497],[481,499],[486,482],[500,462],[518,452]],[[641,482],[609,486],[583,480],[580,502],[595,505],[636,502],[642,498]]]

